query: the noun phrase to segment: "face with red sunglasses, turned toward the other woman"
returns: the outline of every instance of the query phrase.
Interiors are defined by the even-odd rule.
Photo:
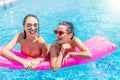
[[[54,31],[59,44],[70,43],[71,40],[71,33],[67,31],[67,26],[65,25],[58,25],[57,30]]]

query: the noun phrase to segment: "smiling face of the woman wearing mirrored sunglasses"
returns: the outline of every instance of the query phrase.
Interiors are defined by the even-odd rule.
[[[35,36],[38,34],[38,20],[29,16],[25,20],[24,31],[26,32],[26,36]]]

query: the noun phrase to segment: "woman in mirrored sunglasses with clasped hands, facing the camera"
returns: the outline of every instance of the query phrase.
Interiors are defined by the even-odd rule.
[[[39,21],[38,18],[29,14],[23,21],[24,32],[18,33],[2,50],[1,55],[21,63],[25,69],[31,70],[45,60],[48,53],[47,44],[42,36],[38,34]],[[32,60],[25,60],[14,55],[12,50],[17,43],[21,45],[21,53],[32,57]],[[40,58],[43,57],[43,58]]]

